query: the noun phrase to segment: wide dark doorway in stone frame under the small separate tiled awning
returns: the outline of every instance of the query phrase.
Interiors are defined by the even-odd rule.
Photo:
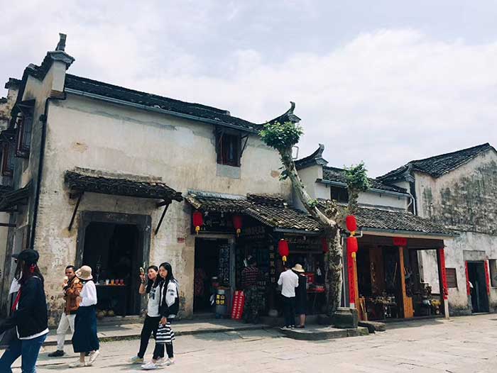
[[[133,224],[89,223],[84,232],[83,264],[93,269],[97,308],[107,315],[138,315],[138,269],[143,266],[141,232]]]

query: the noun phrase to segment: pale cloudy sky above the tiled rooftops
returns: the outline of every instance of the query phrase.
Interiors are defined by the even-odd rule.
[[[0,81],[67,34],[71,74],[264,123],[290,107],[371,177],[497,146],[497,1],[0,0]],[[3,87],[3,84],[0,86]],[[6,96],[6,91],[0,91]]]

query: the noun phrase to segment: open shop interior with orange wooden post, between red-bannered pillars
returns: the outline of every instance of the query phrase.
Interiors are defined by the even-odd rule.
[[[442,313],[440,294],[433,293],[431,284],[420,277],[417,250],[365,245],[356,255],[359,313],[363,320]]]

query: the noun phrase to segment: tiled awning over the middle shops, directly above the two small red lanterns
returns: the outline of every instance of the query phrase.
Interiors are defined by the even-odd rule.
[[[232,196],[190,191],[185,200],[200,211],[240,213],[251,216],[266,226],[295,233],[319,233],[320,224],[309,214],[287,206],[279,196],[247,194]]]

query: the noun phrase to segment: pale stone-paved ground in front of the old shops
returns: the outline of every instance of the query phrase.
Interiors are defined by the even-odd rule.
[[[73,372],[137,372],[125,363],[137,345],[103,343],[94,367]],[[175,351],[176,364],[161,372],[497,372],[497,315],[392,324],[385,333],[317,342],[283,338],[277,330],[185,335],[176,340]],[[75,360],[46,355],[40,356],[38,373],[68,372],[68,362]]]

